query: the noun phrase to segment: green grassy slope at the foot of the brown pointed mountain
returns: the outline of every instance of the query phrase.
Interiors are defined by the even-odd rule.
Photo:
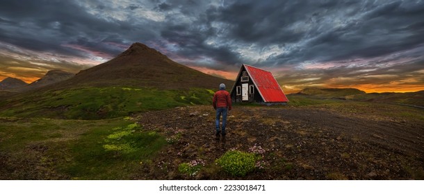
[[[100,97],[99,97],[100,96]],[[101,119],[210,103],[210,89],[85,87],[37,92],[0,101],[0,116]]]

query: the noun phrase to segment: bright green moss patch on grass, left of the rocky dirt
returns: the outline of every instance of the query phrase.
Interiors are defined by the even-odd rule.
[[[128,179],[140,161],[152,159],[167,144],[161,134],[136,123],[96,130],[72,145],[74,160],[63,171],[79,179]]]

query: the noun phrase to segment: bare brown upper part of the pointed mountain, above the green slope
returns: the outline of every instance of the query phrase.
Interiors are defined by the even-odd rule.
[[[162,89],[218,88],[224,82],[228,88],[233,81],[191,69],[170,60],[166,55],[145,44],[134,43],[116,58],[90,69],[80,71],[58,87],[131,86]]]

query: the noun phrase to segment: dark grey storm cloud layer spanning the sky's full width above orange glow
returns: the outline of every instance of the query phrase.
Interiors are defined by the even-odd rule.
[[[74,1],[8,1],[0,6],[0,41],[81,56],[60,44],[85,39],[85,46],[116,55],[120,51],[115,48],[94,44],[113,36],[120,44],[165,39],[179,46],[179,55],[200,54],[228,64],[247,60],[237,48],[251,44],[263,50],[275,44],[286,50],[262,61],[269,65],[372,58],[424,44],[424,3],[412,1],[153,3],[152,10],[163,12],[165,20],[137,22],[146,19],[134,14],[117,20],[90,13],[113,12],[113,1],[90,1],[89,6]],[[145,2],[130,3],[122,12],[142,12],[145,7]],[[220,43],[206,44],[208,39]]]

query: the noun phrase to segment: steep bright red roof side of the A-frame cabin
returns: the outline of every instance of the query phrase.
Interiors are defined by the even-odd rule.
[[[256,85],[265,103],[288,102],[286,94],[279,87],[277,80],[275,80],[270,71],[265,71],[247,64],[243,64],[243,66],[247,73],[249,73],[250,78],[252,78],[254,85]]]

